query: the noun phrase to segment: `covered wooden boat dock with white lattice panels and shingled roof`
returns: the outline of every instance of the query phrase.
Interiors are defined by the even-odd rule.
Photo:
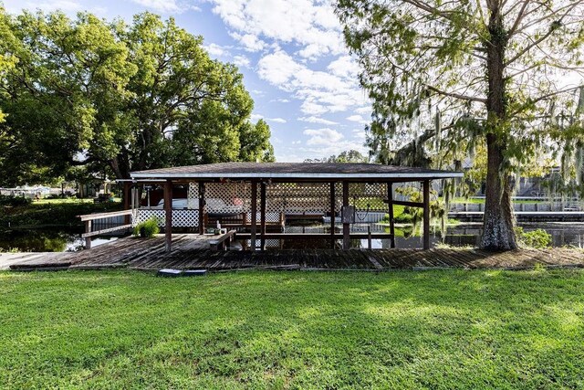
[[[391,248],[395,248],[394,205],[422,208],[423,248],[428,249],[431,182],[462,175],[373,163],[212,163],[132,172],[132,181],[125,183],[125,193],[129,194],[132,185],[163,186],[163,208],[153,210],[153,215],[163,217],[161,225],[169,252],[173,226],[196,228],[203,235],[205,228],[213,227],[216,221],[228,224],[234,220],[240,221],[241,227],[247,227],[248,231],[237,236],[249,238],[252,250],[258,249],[257,242],[259,249],[264,250],[270,238],[308,236],[328,238],[333,248],[335,241],[342,238],[342,248],[347,250],[350,239],[359,236],[351,233],[350,227],[360,211],[389,214],[389,233],[375,233],[373,237],[388,238]],[[394,199],[393,185],[397,183],[420,184],[422,201]],[[172,210],[173,201],[176,201],[173,188],[177,185],[187,192],[183,210]],[[267,231],[270,225],[282,224],[285,216],[302,215],[328,216],[328,232],[308,235]],[[135,216],[134,220],[140,220],[140,216]],[[337,221],[342,224],[339,232],[335,226]]]

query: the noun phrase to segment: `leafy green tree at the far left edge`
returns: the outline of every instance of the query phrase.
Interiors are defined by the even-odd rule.
[[[15,39],[7,47],[17,67],[3,75],[2,132],[5,184],[45,182],[70,166],[90,163],[83,153],[99,129],[113,121],[104,102],[122,100],[135,66],[110,26],[88,14],[71,21],[61,13],[45,16],[3,14]]]

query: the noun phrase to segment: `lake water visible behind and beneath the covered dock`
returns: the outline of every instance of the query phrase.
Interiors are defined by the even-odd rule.
[[[572,246],[584,248],[584,223],[548,222],[537,224],[519,224],[525,231],[543,228],[552,236],[553,247]],[[287,227],[287,232],[321,232],[328,231],[328,227],[322,225],[309,225],[304,227]],[[354,227],[354,230],[367,231],[367,225]],[[388,232],[389,227],[371,224],[372,231]],[[452,246],[477,246],[482,233],[482,224],[461,224],[447,227],[445,233],[439,228],[433,227],[431,242],[435,246],[445,243]],[[99,246],[118,239],[112,237],[96,237],[91,241],[91,246]],[[396,227],[397,248],[422,248],[420,231],[414,231],[411,226]],[[81,233],[66,228],[53,229],[26,229],[9,230],[0,232],[0,249],[3,251],[18,250],[29,252],[65,252],[76,251],[83,248],[85,240]],[[328,240],[268,240],[267,246],[272,248],[329,248]],[[340,241],[339,241],[340,246]],[[372,248],[390,248],[390,240],[373,239]],[[367,240],[352,240],[351,247],[367,248]]]

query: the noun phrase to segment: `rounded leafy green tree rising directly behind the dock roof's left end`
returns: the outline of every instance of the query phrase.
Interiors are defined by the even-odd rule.
[[[149,13],[135,16],[131,26],[117,26],[116,33],[138,67],[111,147],[96,151],[110,153],[117,177],[269,154],[269,129],[249,123],[253,100],[241,74],[209,58],[202,37],[193,37],[172,18],[162,21]]]

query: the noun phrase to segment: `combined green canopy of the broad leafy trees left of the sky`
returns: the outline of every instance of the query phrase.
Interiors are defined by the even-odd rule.
[[[127,178],[183,163],[274,160],[266,122],[249,120],[242,75],[172,18],[144,13],[128,25],[0,8],[0,35],[0,168],[11,173],[1,184],[78,166]]]

